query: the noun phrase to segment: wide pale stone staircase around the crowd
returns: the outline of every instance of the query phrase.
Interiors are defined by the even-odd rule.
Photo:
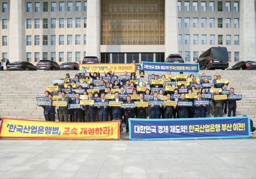
[[[43,108],[36,106],[36,97],[44,96],[46,86],[52,85],[53,79],[64,78],[66,73],[69,73],[70,77],[73,78],[76,71],[0,72],[1,117],[44,121]],[[243,99],[237,101],[237,116],[247,115],[256,124],[256,94],[254,93],[256,90],[256,71],[203,70],[199,74],[194,75],[201,75],[202,73],[212,76],[221,75],[222,79],[229,79],[230,84],[228,88],[233,87],[236,94],[243,95]],[[146,72],[146,74],[152,74],[152,72]],[[125,128],[122,134],[126,134]]]

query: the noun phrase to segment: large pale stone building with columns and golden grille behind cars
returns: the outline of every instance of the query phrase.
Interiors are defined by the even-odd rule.
[[[1,0],[0,58],[193,63],[212,46],[256,60],[254,0]]]

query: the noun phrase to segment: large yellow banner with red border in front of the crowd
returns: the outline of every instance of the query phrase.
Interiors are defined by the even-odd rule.
[[[119,121],[52,122],[2,118],[0,138],[119,139]]]

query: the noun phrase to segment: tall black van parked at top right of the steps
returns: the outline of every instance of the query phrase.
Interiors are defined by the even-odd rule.
[[[229,67],[228,50],[226,47],[211,47],[198,59],[200,69],[226,69]]]

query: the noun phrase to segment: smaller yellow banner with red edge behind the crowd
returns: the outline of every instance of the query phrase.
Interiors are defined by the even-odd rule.
[[[79,70],[86,70],[87,72],[100,72],[104,73],[104,71],[108,71],[107,69],[111,69],[110,71],[114,71],[114,73],[123,73],[126,71],[127,73],[136,72],[136,64],[135,63],[87,63],[87,64],[79,64]]]

